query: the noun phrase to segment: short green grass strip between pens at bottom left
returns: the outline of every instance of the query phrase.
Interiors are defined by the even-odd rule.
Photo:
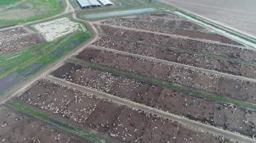
[[[106,143],[109,142],[107,139],[104,139],[103,137],[99,137],[97,134],[89,132],[89,131],[84,131],[78,127],[73,127],[70,126],[69,124],[60,122],[56,119],[52,119],[52,117],[42,114],[42,112],[39,112],[35,109],[29,108],[24,106],[23,104],[19,102],[7,102],[6,105],[8,107],[12,107],[14,109],[19,110],[20,112],[24,112],[26,114],[30,114],[33,117],[36,117],[37,119],[42,119],[45,122],[49,122],[50,124],[55,125],[56,127],[65,130],[66,132],[70,132],[72,134],[76,134],[79,137],[82,137],[90,142],[95,142],[95,143]]]

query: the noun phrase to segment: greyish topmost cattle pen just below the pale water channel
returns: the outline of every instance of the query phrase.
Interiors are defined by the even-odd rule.
[[[175,29],[211,33],[211,30],[209,29],[206,29],[198,24],[195,24],[191,21],[180,18],[170,13],[155,13],[155,14],[143,14],[140,16],[127,16],[127,17],[109,19],[106,21],[102,21],[101,23],[114,24],[117,26],[127,26],[127,27],[133,27],[138,29],[150,30],[150,31],[162,31],[163,33],[170,32],[170,34]],[[147,24],[149,24],[149,26],[147,26]]]

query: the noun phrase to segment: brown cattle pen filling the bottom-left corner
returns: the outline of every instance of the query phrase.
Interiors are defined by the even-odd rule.
[[[86,142],[6,107],[0,109],[0,124],[1,142]]]

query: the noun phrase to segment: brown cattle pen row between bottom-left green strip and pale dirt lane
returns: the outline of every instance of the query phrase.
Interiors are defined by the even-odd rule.
[[[232,142],[45,80],[37,82],[19,101],[106,134],[117,142]]]

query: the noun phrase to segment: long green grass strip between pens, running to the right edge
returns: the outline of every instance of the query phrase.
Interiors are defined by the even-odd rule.
[[[232,98],[229,98],[229,97],[221,97],[217,94],[198,91],[197,89],[193,89],[191,87],[185,87],[185,86],[182,86],[182,85],[173,84],[172,82],[165,82],[165,81],[160,80],[160,79],[155,79],[155,78],[152,78],[152,77],[142,76],[142,75],[134,73],[134,72],[121,71],[121,70],[118,70],[118,69],[113,69],[113,68],[101,66],[99,64],[91,63],[89,61],[83,61],[81,59],[72,58],[72,59],[70,59],[70,61],[71,62],[74,61],[75,63],[89,66],[92,69],[99,69],[101,71],[106,71],[106,72],[109,72],[109,73],[111,73],[113,75],[116,75],[116,76],[119,76],[119,77],[128,77],[128,78],[132,78],[132,79],[137,79],[139,81],[159,85],[160,87],[163,87],[163,88],[174,89],[174,90],[178,90],[178,91],[181,91],[181,92],[186,92],[186,93],[191,94],[195,97],[210,99],[211,101],[214,101],[214,102],[224,102],[224,103],[234,104],[237,107],[243,107],[243,108],[247,108],[247,109],[250,109],[250,110],[256,110],[256,105],[255,104],[252,104],[252,103],[249,103],[249,102],[244,102],[244,101],[239,100],[239,99],[232,99]]]

